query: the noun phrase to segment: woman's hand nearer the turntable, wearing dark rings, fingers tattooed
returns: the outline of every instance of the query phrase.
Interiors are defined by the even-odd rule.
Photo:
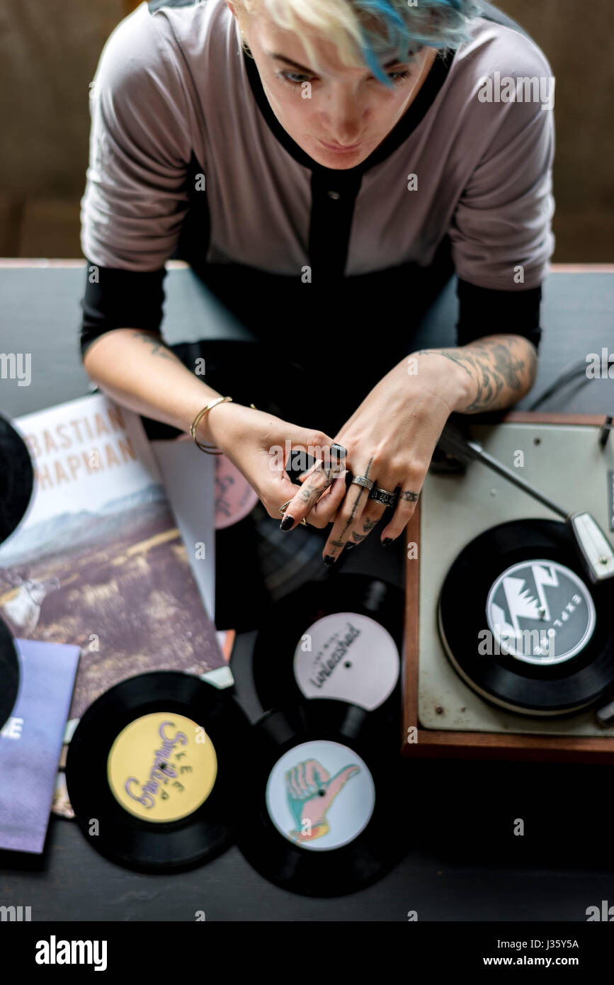
[[[446,421],[468,399],[465,376],[459,366],[449,368],[428,356],[399,362],[335,436],[346,449],[344,465],[353,476],[366,476],[375,487],[399,493],[394,514],[380,531],[384,546],[404,530]],[[326,482],[326,473],[315,463],[303,477],[300,493],[287,506],[295,524],[309,515]],[[340,505],[336,497],[325,495],[318,504],[319,520],[334,521],[323,552],[325,561],[332,564],[346,545],[360,544],[386,508],[358,485],[348,487]]]

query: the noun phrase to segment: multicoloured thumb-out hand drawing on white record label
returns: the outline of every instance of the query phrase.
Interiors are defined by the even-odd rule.
[[[343,766],[335,776],[317,759],[299,762],[285,774],[287,802],[296,829],[288,831],[295,841],[313,841],[329,830],[326,813],[347,783],[350,776],[360,772],[360,766]]]

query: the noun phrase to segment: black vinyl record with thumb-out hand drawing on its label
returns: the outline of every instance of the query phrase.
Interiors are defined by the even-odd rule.
[[[319,707],[322,705],[322,707]],[[238,846],[277,886],[337,896],[381,879],[405,853],[399,745],[344,701],[267,712],[253,727],[249,815]]]

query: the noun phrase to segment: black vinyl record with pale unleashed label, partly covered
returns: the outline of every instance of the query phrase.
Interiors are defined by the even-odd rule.
[[[261,704],[332,698],[369,711],[392,709],[403,613],[396,585],[362,574],[339,573],[284,596],[265,614],[256,638]]]

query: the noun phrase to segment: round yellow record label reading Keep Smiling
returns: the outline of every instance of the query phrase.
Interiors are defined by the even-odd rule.
[[[115,799],[130,814],[144,821],[179,821],[212,792],[217,756],[202,726],[156,711],[122,729],[106,772]]]

